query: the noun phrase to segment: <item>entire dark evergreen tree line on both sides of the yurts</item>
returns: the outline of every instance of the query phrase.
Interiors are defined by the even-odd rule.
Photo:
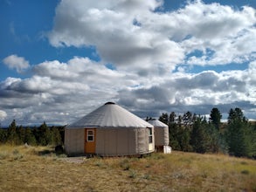
[[[169,126],[170,146],[174,150],[196,153],[222,153],[256,159],[256,123],[252,124],[240,108],[231,109],[226,123],[222,114],[212,108],[209,120],[205,116],[186,112],[176,115],[163,113],[159,120]],[[65,127],[0,127],[0,143],[12,145],[63,145]]]

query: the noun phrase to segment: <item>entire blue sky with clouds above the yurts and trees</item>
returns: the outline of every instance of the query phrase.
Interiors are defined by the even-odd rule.
[[[140,117],[256,119],[255,0],[1,0],[0,122],[65,125],[114,101]]]

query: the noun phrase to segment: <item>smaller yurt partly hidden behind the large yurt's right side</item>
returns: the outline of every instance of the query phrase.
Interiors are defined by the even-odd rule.
[[[148,122],[154,126],[155,130],[155,146],[156,151],[170,154],[171,148],[169,146],[169,127],[160,120],[148,120]]]

